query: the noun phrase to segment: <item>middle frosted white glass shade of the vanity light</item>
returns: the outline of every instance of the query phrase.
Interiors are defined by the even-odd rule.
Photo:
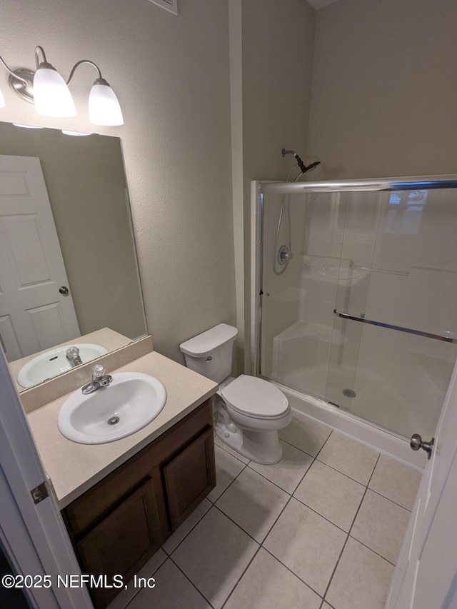
[[[76,116],[76,108],[66,82],[58,71],[39,68],[34,76],[34,101],[38,114]]]

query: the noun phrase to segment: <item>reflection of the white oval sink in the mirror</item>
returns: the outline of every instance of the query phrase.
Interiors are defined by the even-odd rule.
[[[67,360],[65,353],[69,347],[78,347],[79,356],[83,363],[91,361],[108,353],[108,350],[101,345],[91,343],[71,343],[64,345],[28,361],[17,373],[17,382],[21,387],[28,388],[37,383],[42,383],[48,378],[57,376],[63,372],[71,370],[73,366]]]

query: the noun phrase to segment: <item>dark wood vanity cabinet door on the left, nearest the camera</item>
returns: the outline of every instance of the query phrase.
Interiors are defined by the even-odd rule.
[[[83,573],[123,575],[124,583],[146,563],[161,546],[153,480],[149,478],[118,508],[82,538],[76,547]],[[106,607],[119,593],[116,588],[91,588],[97,608]]]

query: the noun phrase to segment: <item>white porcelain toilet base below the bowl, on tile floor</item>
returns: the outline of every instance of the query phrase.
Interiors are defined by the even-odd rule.
[[[276,430],[250,431],[240,429],[233,422],[230,429],[233,431],[219,421],[216,423],[216,436],[240,455],[262,465],[273,465],[283,458],[283,447]]]

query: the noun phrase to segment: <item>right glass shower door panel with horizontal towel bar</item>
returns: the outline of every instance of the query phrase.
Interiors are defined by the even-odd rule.
[[[433,436],[457,356],[456,203],[454,189],[348,194],[343,256],[363,279],[349,295],[338,281],[347,342],[332,343],[326,400],[401,436]]]

